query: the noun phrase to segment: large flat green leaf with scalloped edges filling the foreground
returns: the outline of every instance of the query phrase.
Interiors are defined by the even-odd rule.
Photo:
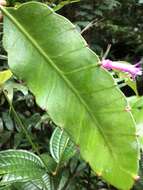
[[[9,66],[65,128],[92,169],[129,189],[138,169],[135,125],[125,97],[75,26],[44,4],[2,8]]]

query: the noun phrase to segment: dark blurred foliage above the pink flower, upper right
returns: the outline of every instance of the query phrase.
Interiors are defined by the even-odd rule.
[[[109,57],[126,61],[141,59],[143,52],[143,2],[139,0],[83,0],[64,8],[64,15],[80,29],[90,47],[103,55],[111,44]]]

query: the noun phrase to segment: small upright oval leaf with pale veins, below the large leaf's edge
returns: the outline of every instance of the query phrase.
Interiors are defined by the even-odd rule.
[[[68,161],[76,152],[74,143],[67,133],[57,127],[50,140],[50,152],[57,163]]]

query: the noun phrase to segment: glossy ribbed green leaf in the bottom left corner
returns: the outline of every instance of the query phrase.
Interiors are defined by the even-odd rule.
[[[35,154],[24,150],[0,152],[0,185],[42,179],[45,169]]]

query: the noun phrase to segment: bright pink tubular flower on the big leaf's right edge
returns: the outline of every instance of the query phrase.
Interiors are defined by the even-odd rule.
[[[142,75],[142,69],[140,63],[137,63],[135,65],[130,65],[118,61],[111,61],[109,59],[105,59],[102,61],[102,67],[108,70],[113,69],[129,73],[131,74],[131,77],[133,79],[135,79],[137,75]]]

